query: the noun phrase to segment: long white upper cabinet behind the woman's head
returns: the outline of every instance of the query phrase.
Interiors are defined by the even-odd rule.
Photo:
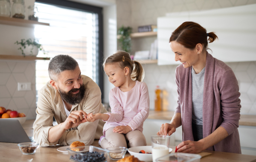
[[[169,46],[172,32],[185,21],[199,23],[207,33],[215,32],[218,40],[208,43],[213,57],[224,62],[256,61],[256,4],[173,13],[157,19],[158,65],[180,64],[175,62]]]

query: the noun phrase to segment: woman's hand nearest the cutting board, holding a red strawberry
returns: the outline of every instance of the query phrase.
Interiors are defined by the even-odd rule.
[[[200,141],[183,141],[177,145],[177,152],[182,153],[200,153],[204,150],[204,144]]]

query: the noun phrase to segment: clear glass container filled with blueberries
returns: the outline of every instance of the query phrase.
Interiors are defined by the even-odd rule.
[[[95,146],[67,148],[67,151],[70,160],[73,162],[107,162],[108,159],[108,151]]]

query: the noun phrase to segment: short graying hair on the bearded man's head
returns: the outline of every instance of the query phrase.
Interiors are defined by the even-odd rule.
[[[73,57],[60,54],[52,58],[49,63],[48,73],[51,80],[58,81],[58,75],[65,70],[75,70],[78,66]]]

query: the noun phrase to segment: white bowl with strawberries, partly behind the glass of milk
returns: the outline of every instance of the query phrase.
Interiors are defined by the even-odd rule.
[[[144,150],[145,153],[139,153],[141,150]],[[128,152],[134,157],[137,157],[140,161],[153,162],[151,154],[152,146],[137,146],[133,148],[128,148]],[[172,148],[169,148],[169,153],[170,152],[172,152]]]

